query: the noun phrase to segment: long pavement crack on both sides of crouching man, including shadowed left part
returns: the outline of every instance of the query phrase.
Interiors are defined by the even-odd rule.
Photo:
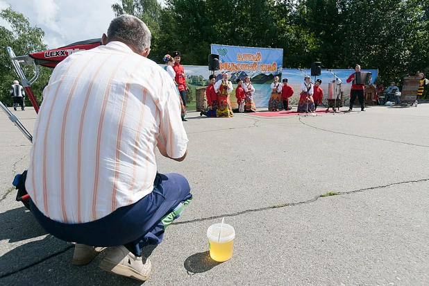
[[[340,192],[336,196],[342,196],[342,195],[345,195],[345,194],[355,194],[355,193],[358,193],[358,192],[365,192],[365,191],[369,191],[369,190],[383,189],[383,188],[391,187],[391,186],[394,186],[394,185],[403,185],[403,184],[409,184],[409,183],[422,183],[422,182],[428,182],[428,181],[429,181],[429,178],[424,178],[424,179],[420,179],[420,180],[407,180],[407,181],[403,181],[403,182],[390,183],[390,184],[387,184],[387,185],[379,185],[379,186],[376,186],[376,187],[364,187],[364,188],[359,189],[359,190],[352,190],[352,191],[348,191],[348,192]],[[309,199],[307,201],[300,201],[298,203],[282,203],[282,204],[279,204],[279,205],[270,205],[270,206],[267,206],[267,207],[264,207],[264,208],[257,208],[257,209],[252,209],[252,210],[243,210],[242,212],[234,212],[232,214],[221,214],[221,215],[216,215],[216,216],[212,216],[212,217],[203,217],[201,219],[191,219],[191,220],[188,220],[188,221],[178,221],[178,222],[174,222],[173,224],[171,224],[171,226],[179,226],[180,224],[192,224],[194,222],[208,221],[208,220],[211,220],[211,219],[220,219],[221,217],[237,217],[237,216],[239,216],[241,214],[246,214],[246,213],[249,213],[249,212],[261,212],[261,211],[264,211],[264,210],[272,210],[272,209],[276,209],[276,208],[286,208],[286,207],[292,207],[292,206],[296,206],[296,205],[305,205],[305,204],[308,204],[308,203],[314,203],[314,201],[317,201],[319,199],[326,199],[328,197],[326,197],[326,196],[322,197],[322,196],[319,195],[319,196],[314,196],[314,198]],[[26,269],[29,269],[29,268],[37,265],[37,264],[40,264],[40,263],[42,263],[42,262],[44,262],[46,260],[54,258],[54,257],[56,257],[56,256],[58,256],[58,255],[60,255],[62,253],[65,253],[66,251],[69,251],[69,249],[72,249],[73,247],[74,247],[74,245],[69,245],[65,249],[63,249],[62,251],[58,251],[56,253],[53,253],[53,254],[47,256],[46,258],[42,258],[41,260],[39,260],[37,262],[33,262],[33,263],[27,265],[26,267],[22,267],[20,269],[15,270],[15,271],[11,271],[11,272],[8,272],[6,274],[3,274],[3,275],[0,276],[0,278],[5,278],[5,277],[11,276],[13,274],[17,274],[20,271],[24,271]]]

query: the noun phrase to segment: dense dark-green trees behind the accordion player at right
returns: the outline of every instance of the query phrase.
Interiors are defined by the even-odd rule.
[[[306,54],[324,67],[379,69],[378,82],[401,83],[428,67],[428,21],[417,0],[305,0],[295,26],[314,39]],[[309,41],[305,41],[308,44]],[[307,62],[307,67],[309,62]]]

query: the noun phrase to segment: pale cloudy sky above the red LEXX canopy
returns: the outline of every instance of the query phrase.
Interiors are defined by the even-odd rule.
[[[119,0],[0,0],[0,10],[12,6],[44,31],[49,49],[101,37],[115,17],[111,8]],[[0,19],[0,26],[10,25]]]

